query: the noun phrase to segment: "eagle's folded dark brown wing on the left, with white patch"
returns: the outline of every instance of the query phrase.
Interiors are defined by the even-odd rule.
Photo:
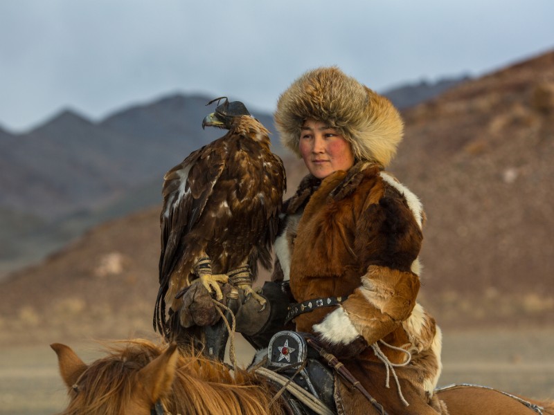
[[[166,293],[170,278],[183,257],[184,238],[204,212],[213,187],[225,167],[224,145],[220,140],[193,151],[163,177],[163,208],[160,215],[160,288],[156,299],[154,327],[161,331],[166,314]],[[188,271],[185,270],[188,274]],[[187,277],[187,275],[184,275]],[[181,287],[182,288],[182,287]]]

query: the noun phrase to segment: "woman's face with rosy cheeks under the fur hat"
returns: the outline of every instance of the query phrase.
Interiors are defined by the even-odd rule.
[[[337,130],[316,120],[305,120],[300,132],[300,154],[310,173],[325,178],[354,165],[350,143]]]

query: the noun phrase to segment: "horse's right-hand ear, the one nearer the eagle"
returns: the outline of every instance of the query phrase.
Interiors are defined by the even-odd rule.
[[[170,390],[177,371],[178,357],[177,344],[170,344],[166,351],[138,372],[137,376],[150,394],[152,403]]]

